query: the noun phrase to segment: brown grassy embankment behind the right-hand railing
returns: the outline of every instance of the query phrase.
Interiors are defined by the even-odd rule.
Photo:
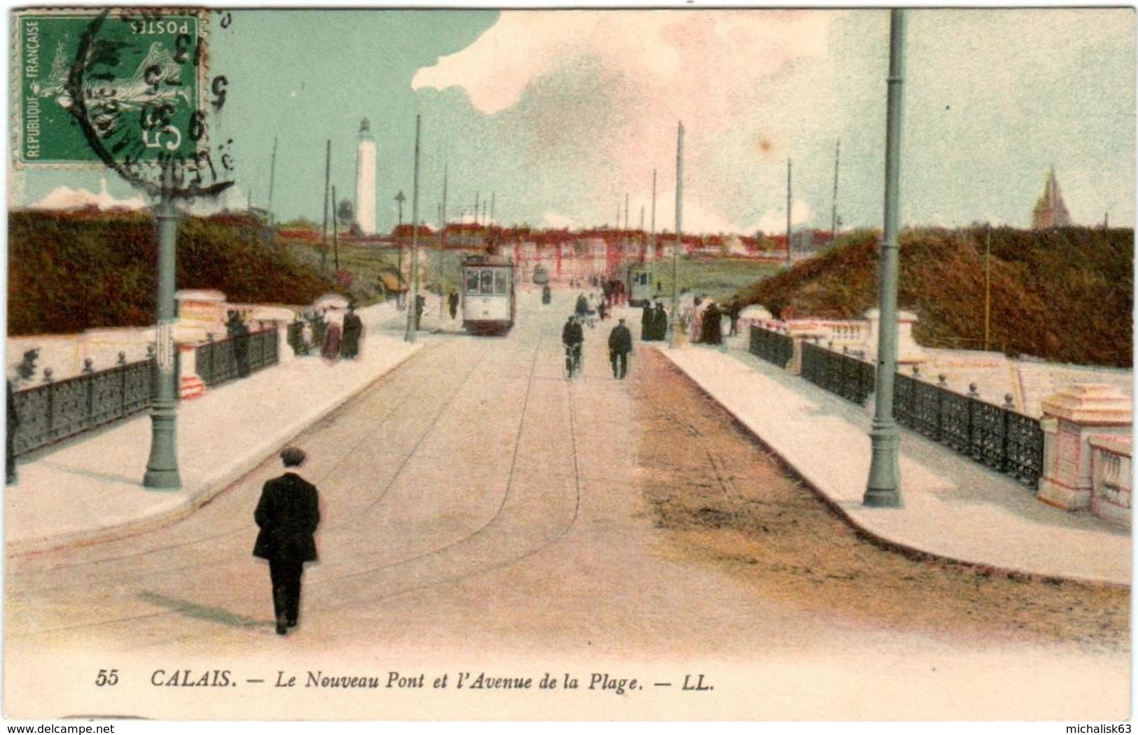
[[[987,238],[984,229],[902,233],[898,303],[917,314],[922,345],[983,345]],[[1132,230],[992,229],[989,269],[993,349],[1132,365]],[[858,319],[876,305],[876,278],[877,236],[858,232],[742,295],[784,317]]]

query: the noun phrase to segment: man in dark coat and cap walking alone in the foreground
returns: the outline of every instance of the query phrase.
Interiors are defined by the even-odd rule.
[[[297,447],[281,452],[286,472],[265,482],[253,514],[261,528],[253,555],[269,560],[278,635],[284,635],[299,620],[304,562],[316,561],[313,534],[320,525],[320,495],[315,486],[288,471],[304,464],[304,452]]]

